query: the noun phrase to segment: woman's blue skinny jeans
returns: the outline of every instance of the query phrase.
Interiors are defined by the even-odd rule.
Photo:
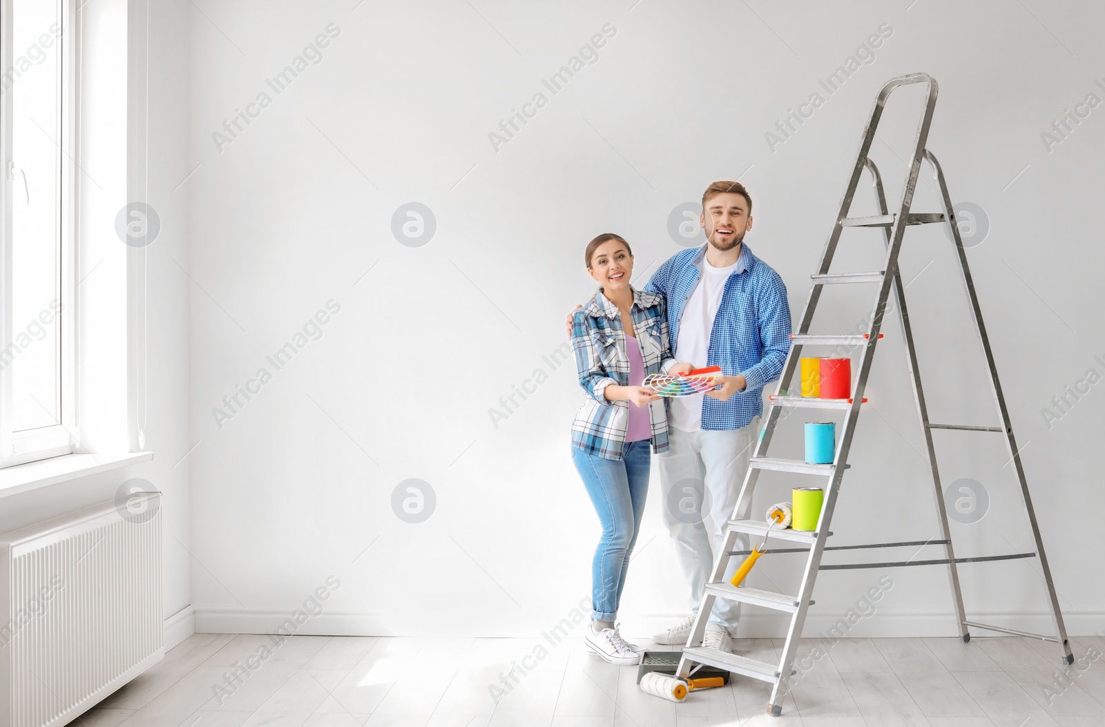
[[[648,440],[630,442],[621,460],[603,460],[573,446],[571,459],[602,524],[602,538],[591,565],[591,619],[613,621],[630,554],[641,529],[652,451]]]

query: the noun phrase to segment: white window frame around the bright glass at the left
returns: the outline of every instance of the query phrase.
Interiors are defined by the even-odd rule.
[[[12,46],[13,1],[0,0],[0,24],[3,28],[0,38],[0,73],[12,67],[14,48]],[[77,84],[77,28],[74,0],[51,0],[57,8],[62,24],[61,35],[55,44],[60,60],[57,78],[61,84],[61,114],[54,129],[61,145],[60,157],[60,196],[56,244],[60,246],[56,268],[57,301],[61,308],[57,312],[57,336],[60,371],[56,375],[57,402],[61,413],[60,423],[36,429],[12,429],[12,367],[0,370],[0,468],[9,467],[48,457],[71,454],[80,449],[78,412],[76,396],[77,368],[77,310],[76,310],[76,271],[77,271],[77,214],[80,199],[80,177],[75,159],[80,158],[77,139],[78,123],[78,84]],[[18,83],[18,80],[14,80]],[[13,83],[13,85],[14,85]],[[10,88],[0,94],[0,355],[8,350],[17,333],[18,322],[12,320],[12,199],[15,178],[13,173],[17,160],[12,158],[12,108]]]

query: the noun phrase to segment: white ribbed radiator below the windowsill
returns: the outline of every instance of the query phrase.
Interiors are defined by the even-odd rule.
[[[165,652],[160,493],[0,535],[0,727],[60,727]]]

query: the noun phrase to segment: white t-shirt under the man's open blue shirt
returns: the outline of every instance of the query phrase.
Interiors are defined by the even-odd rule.
[[[714,318],[722,305],[722,294],[725,293],[725,282],[737,263],[728,267],[714,267],[705,257],[702,260],[702,277],[698,286],[691,294],[683,315],[680,316],[678,341],[675,346],[675,360],[690,361],[697,368],[708,366],[706,357],[709,354],[709,334],[714,330]],[[673,397],[669,423],[683,432],[696,432],[702,429],[702,400],[705,394],[695,393],[690,397]]]

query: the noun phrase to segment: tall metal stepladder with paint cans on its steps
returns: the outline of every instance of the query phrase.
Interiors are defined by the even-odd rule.
[[[928,96],[925,104],[925,109],[917,127],[917,133],[913,149],[913,159],[909,166],[909,173],[906,179],[905,187],[902,192],[902,201],[898,209],[891,213],[887,210],[886,197],[883,191],[882,178],[878,175],[878,170],[874,162],[867,158],[871,150],[871,145],[875,138],[875,129],[878,126],[878,120],[882,117],[883,109],[886,104],[886,99],[890,94],[904,85],[909,85],[914,83],[927,83],[928,84]],[[832,233],[829,235],[829,240],[825,242],[824,251],[821,257],[821,265],[818,272],[811,275],[813,281],[812,289],[810,291],[809,298],[806,303],[806,308],[802,313],[801,320],[798,326],[798,333],[796,333],[792,338],[792,346],[790,352],[787,355],[786,364],[783,365],[782,375],[779,379],[779,383],[776,388],[776,393],[770,397],[770,407],[768,409],[766,422],[764,425],[762,436],[755,452],[753,453],[753,459],[748,467],[748,472],[745,476],[744,484],[740,488],[740,494],[737,499],[737,506],[734,510],[733,518],[728,521],[726,526],[725,544],[716,554],[714,561],[714,569],[709,578],[709,582],[705,586],[705,593],[703,594],[702,603],[698,608],[698,615],[695,620],[695,624],[691,631],[691,635],[687,639],[687,645],[683,650],[683,656],[680,660],[678,670],[676,672],[677,676],[686,678],[691,670],[695,664],[705,664],[718,668],[726,668],[733,673],[749,676],[755,679],[762,682],[768,682],[772,684],[771,696],[768,703],[767,710],[775,716],[778,716],[782,712],[782,699],[788,692],[788,685],[790,677],[796,674],[792,668],[794,657],[798,651],[798,643],[801,636],[802,625],[806,621],[806,614],[809,605],[812,603],[810,597],[813,592],[813,583],[819,570],[824,569],[844,569],[844,568],[864,568],[872,566],[904,566],[904,565],[947,565],[951,581],[951,592],[955,600],[956,614],[958,619],[959,636],[964,642],[970,640],[969,626],[975,626],[977,629],[983,629],[988,631],[1003,632],[1014,635],[1024,635],[1043,639],[1046,641],[1053,641],[1060,644],[1063,651],[1062,662],[1064,664],[1072,664],[1074,662],[1074,656],[1071,652],[1071,646],[1066,638],[1066,629],[1063,624],[1063,615],[1059,608],[1059,600],[1055,594],[1055,588],[1051,578],[1051,569],[1048,565],[1048,558],[1044,555],[1043,540],[1040,536],[1040,528],[1036,524],[1035,512],[1032,508],[1032,499],[1029,495],[1028,483],[1024,476],[1024,468],[1021,464],[1020,452],[1017,446],[1017,441],[1013,436],[1012,424],[1009,419],[1009,411],[1006,408],[1006,400],[1001,391],[1001,383],[998,380],[998,371],[994,366],[993,352],[990,349],[990,341],[987,337],[986,326],[982,322],[982,313],[979,308],[978,297],[975,294],[975,285],[970,275],[970,267],[967,264],[967,255],[964,249],[962,239],[959,234],[959,229],[956,224],[955,215],[953,212],[951,199],[948,194],[948,189],[944,180],[944,172],[940,168],[939,162],[936,157],[933,156],[930,151],[925,148],[928,138],[928,130],[933,119],[933,109],[936,105],[938,86],[936,80],[924,73],[909,74],[904,76],[898,76],[891,78],[878,93],[875,99],[874,107],[871,112],[871,117],[867,123],[866,128],[863,130],[862,141],[860,144],[860,151],[855,160],[855,165],[852,168],[852,175],[848,182],[848,188],[844,191],[844,197],[840,206],[840,211],[836,215],[835,224],[833,225]],[[938,213],[915,213],[911,212],[911,206],[913,202],[914,191],[917,185],[917,177],[920,171],[922,160],[926,159],[933,168],[936,180],[939,183],[939,193],[941,197],[941,202],[944,207],[943,212]],[[875,217],[862,217],[862,218],[850,218],[848,217],[849,209],[852,204],[852,198],[855,194],[856,187],[859,185],[860,178],[863,170],[867,169],[874,178],[874,187],[877,194],[878,207],[881,214]],[[998,426],[977,426],[967,424],[934,424],[928,420],[928,410],[925,405],[924,390],[922,388],[920,373],[917,367],[917,355],[914,347],[913,333],[909,327],[909,315],[906,308],[904,286],[902,284],[902,278],[897,268],[898,251],[902,245],[902,240],[907,225],[913,224],[926,224],[926,223],[945,223],[948,225],[948,230],[951,233],[951,238],[955,241],[956,251],[958,253],[960,273],[962,276],[962,282],[967,291],[967,297],[970,302],[971,314],[975,319],[977,333],[979,340],[982,344],[982,351],[986,356],[987,364],[989,366],[991,391],[993,394],[993,401],[997,407],[998,413],[1001,419],[1001,423]],[[836,251],[836,244],[840,241],[841,232],[845,228],[863,226],[863,228],[882,228],[885,231],[886,236],[886,259],[885,265],[882,271],[870,272],[870,273],[830,273],[829,268],[832,263],[833,254]],[[813,313],[817,308],[818,299],[820,298],[822,287],[830,284],[843,284],[843,283],[878,283],[878,295],[876,298],[874,310],[871,314],[870,328],[867,334],[860,335],[810,335],[809,328],[813,319]],[[870,546],[845,546],[846,549],[855,548],[875,548],[875,547],[887,547],[887,546],[904,546],[904,545],[943,545],[945,549],[946,557],[937,560],[925,560],[918,562],[897,562],[897,563],[855,563],[855,565],[832,565],[822,566],[821,556],[827,549],[825,540],[829,535],[830,523],[832,520],[833,508],[836,504],[836,496],[840,491],[841,480],[844,475],[844,470],[848,465],[848,454],[849,449],[852,444],[852,436],[855,432],[855,424],[860,415],[860,409],[864,401],[863,398],[864,388],[867,382],[867,375],[871,370],[871,364],[875,351],[875,345],[878,339],[882,338],[880,333],[883,324],[883,314],[886,309],[887,299],[893,291],[897,303],[898,318],[902,325],[902,334],[906,343],[906,350],[908,354],[908,368],[909,375],[913,381],[914,398],[917,404],[917,413],[920,418],[922,430],[925,435],[925,443],[927,446],[928,462],[933,475],[933,484],[935,485],[936,505],[939,515],[940,523],[940,536],[938,539],[932,539],[923,542],[901,542],[901,544],[873,544]],[[785,396],[783,391],[788,386],[788,382],[793,377],[801,350],[803,346],[824,346],[824,345],[843,345],[843,346],[855,346],[862,347],[860,352],[860,361],[857,367],[857,376],[855,377],[854,389],[852,397],[849,399],[818,399],[818,398],[803,398],[796,396]],[[818,408],[818,409],[836,409],[843,410],[844,422],[841,426],[840,433],[838,435],[836,451],[834,461],[832,464],[807,464],[803,461],[796,460],[782,460],[777,457],[766,456],[768,446],[771,442],[771,435],[775,431],[775,426],[780,421],[780,412],[785,409],[792,411],[792,408]],[[789,413],[789,412],[788,412]],[[1024,506],[1028,514],[1028,520],[1032,529],[1032,535],[1035,542],[1035,552],[1027,554],[1013,554],[1003,556],[987,556],[979,558],[956,558],[955,551],[951,546],[951,534],[948,527],[948,517],[944,503],[944,493],[940,485],[940,475],[937,468],[936,462],[936,451],[933,444],[933,430],[960,430],[960,431],[971,431],[971,432],[997,432],[1004,435],[1006,444],[1008,447],[1008,453],[1010,456],[1010,462],[1013,463],[1014,471],[1017,473],[1017,478],[1020,482],[1021,495],[1024,501]],[[1008,464],[1008,463],[1007,463]],[[782,472],[793,472],[802,473],[809,475],[820,475],[828,477],[828,485],[824,487],[824,504],[821,509],[821,515],[818,519],[817,529],[814,531],[798,531],[792,529],[775,529],[771,533],[772,538],[789,540],[792,544],[798,542],[802,547],[800,550],[809,550],[809,556],[806,562],[806,570],[801,579],[801,586],[797,596],[789,596],[783,593],[775,593],[771,591],[765,591],[754,588],[748,588],[741,586],[740,588],[734,588],[728,581],[725,580],[725,570],[728,565],[729,558],[735,555],[744,555],[747,551],[734,551],[733,548],[737,542],[737,536],[739,534],[747,534],[749,536],[764,536],[768,524],[765,520],[741,520],[739,514],[741,513],[741,506],[745,502],[745,497],[750,497],[750,494],[756,485],[756,480],[762,470],[775,470]],[[829,548],[836,549],[836,548]],[[768,550],[770,552],[770,550]],[[1043,573],[1043,580],[1046,586],[1049,605],[1051,608],[1051,615],[1055,624],[1055,630],[1057,638],[1045,636],[1040,634],[1029,634],[1020,631],[1014,631],[1011,629],[1006,629],[1002,626],[987,625],[981,623],[976,623],[967,620],[966,612],[964,610],[962,594],[959,588],[959,575],[956,569],[956,565],[959,562],[977,562],[977,561],[989,561],[989,560],[1008,560],[1017,558],[1029,558],[1038,557],[1040,559],[1040,569]],[[706,622],[711,611],[714,608],[714,600],[717,598],[728,599],[732,601],[737,601],[750,605],[757,605],[762,608],[768,608],[772,610],[778,610],[791,614],[790,628],[787,632],[786,643],[782,649],[782,656],[778,664],[766,663],[757,660],[753,660],[738,654],[730,654],[726,652],[720,652],[713,649],[707,649],[702,646],[703,635],[706,629]]]

